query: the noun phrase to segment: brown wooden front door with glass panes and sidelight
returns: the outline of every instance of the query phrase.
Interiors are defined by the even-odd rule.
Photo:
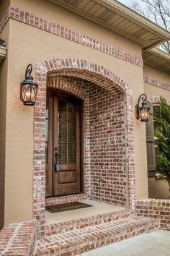
[[[61,93],[48,93],[46,196],[81,192],[81,103]]]

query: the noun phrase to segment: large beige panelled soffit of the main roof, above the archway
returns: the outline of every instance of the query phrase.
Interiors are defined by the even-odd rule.
[[[140,43],[144,50],[170,39],[164,28],[115,0],[49,0]]]

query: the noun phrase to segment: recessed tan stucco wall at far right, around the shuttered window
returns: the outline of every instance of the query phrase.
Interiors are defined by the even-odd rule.
[[[170,84],[170,74],[163,72],[160,69],[156,69],[155,67],[151,67],[148,64],[144,65],[143,73],[148,77],[153,77],[158,81]],[[160,95],[164,96],[170,101],[169,90],[164,90],[154,85],[144,83],[144,92],[148,97],[148,101],[151,101],[151,98],[157,98]],[[167,198],[169,197],[169,186],[161,179],[149,178],[148,193],[149,197],[151,198]]]

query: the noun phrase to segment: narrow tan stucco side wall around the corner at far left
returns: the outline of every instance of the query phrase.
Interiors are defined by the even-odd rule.
[[[0,34],[0,38],[8,40],[9,24]],[[6,85],[8,72],[8,56],[0,63],[0,229],[4,225],[4,184],[5,184],[5,142],[6,142]]]

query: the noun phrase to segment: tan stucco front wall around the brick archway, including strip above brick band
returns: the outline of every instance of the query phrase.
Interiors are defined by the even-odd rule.
[[[39,4],[37,4],[39,3]],[[40,4],[41,3],[41,4]],[[81,33],[141,56],[140,46],[46,1],[12,0],[12,5],[60,22]],[[137,198],[148,197],[145,124],[135,119],[135,104],[143,93],[143,69],[71,40],[15,20],[9,21],[9,74],[6,115],[5,223],[32,218],[33,108],[19,101],[19,82],[27,64],[50,58],[87,59],[112,70],[133,90]]]

